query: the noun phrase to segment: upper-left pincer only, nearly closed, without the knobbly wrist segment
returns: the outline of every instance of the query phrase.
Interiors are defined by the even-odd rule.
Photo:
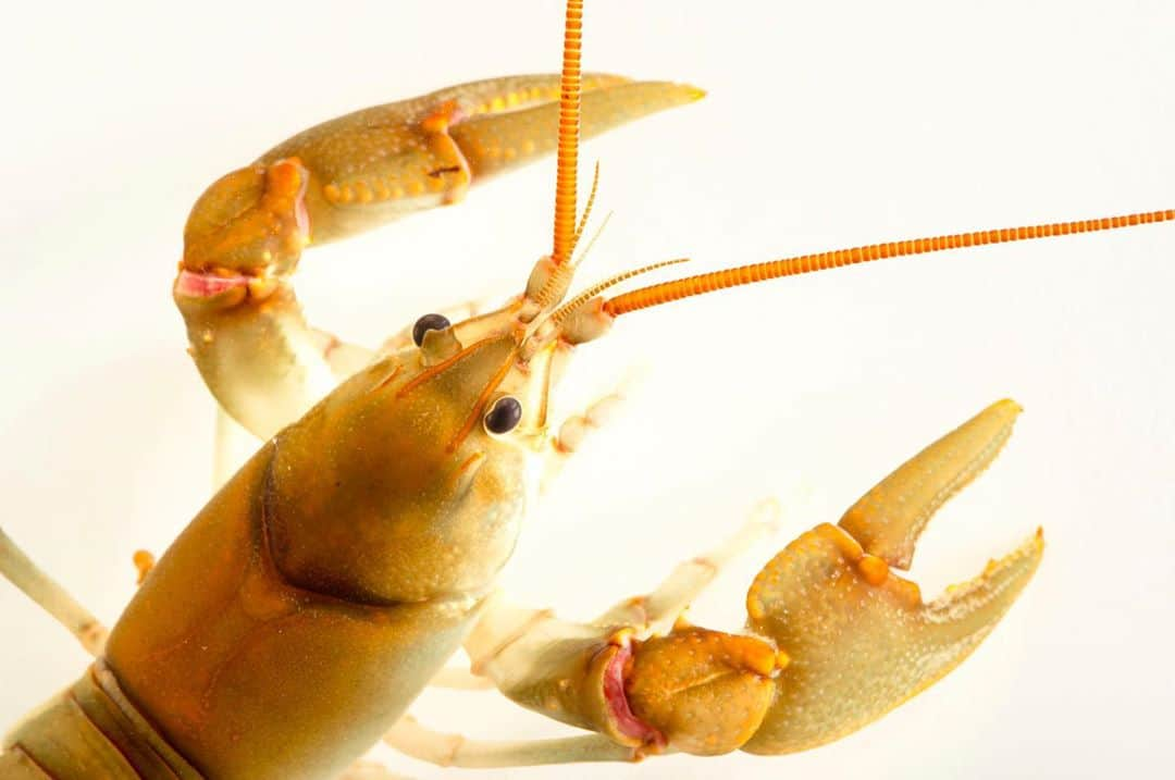
[[[262,155],[310,172],[311,238],[334,241],[411,211],[459,201],[469,186],[556,146],[559,76],[508,76],[450,87],[324,122]],[[691,102],[683,85],[584,78],[584,135]]]

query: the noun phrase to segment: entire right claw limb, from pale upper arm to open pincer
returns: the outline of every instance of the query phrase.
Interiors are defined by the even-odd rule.
[[[787,545],[747,592],[748,634],[680,617],[657,634],[627,607],[576,624],[497,606],[465,644],[475,671],[633,758],[792,753],[845,737],[961,663],[1035,572],[1039,531],[931,603],[894,573],[931,516],[995,458],[1019,412],[1012,401],[992,404],[899,466],[839,525]]]

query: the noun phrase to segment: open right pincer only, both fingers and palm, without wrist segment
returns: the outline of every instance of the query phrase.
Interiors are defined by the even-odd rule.
[[[926,520],[994,458],[1018,412],[993,404],[882,480],[840,527],[808,531],[764,567],[747,593],[748,626],[791,664],[744,749],[791,753],[845,737],[939,680],[995,627],[1040,563],[1040,531],[929,604],[889,566],[908,564]]]

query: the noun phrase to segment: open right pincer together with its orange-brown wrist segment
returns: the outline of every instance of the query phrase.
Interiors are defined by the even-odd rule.
[[[1038,531],[931,603],[893,570],[909,565],[934,511],[995,458],[1019,412],[1012,401],[988,406],[838,525],[787,545],[747,593],[756,637],[678,626],[639,644],[626,679],[633,712],[673,749],[792,753],[845,737],[942,678],[1028,584],[1043,538]]]

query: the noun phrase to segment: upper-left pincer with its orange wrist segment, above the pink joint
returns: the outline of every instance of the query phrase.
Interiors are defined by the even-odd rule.
[[[583,88],[585,136],[705,94],[609,74],[584,76]],[[200,196],[183,268],[288,273],[304,243],[456,202],[475,181],[555,149],[558,90],[557,74],[475,81],[303,130]]]

